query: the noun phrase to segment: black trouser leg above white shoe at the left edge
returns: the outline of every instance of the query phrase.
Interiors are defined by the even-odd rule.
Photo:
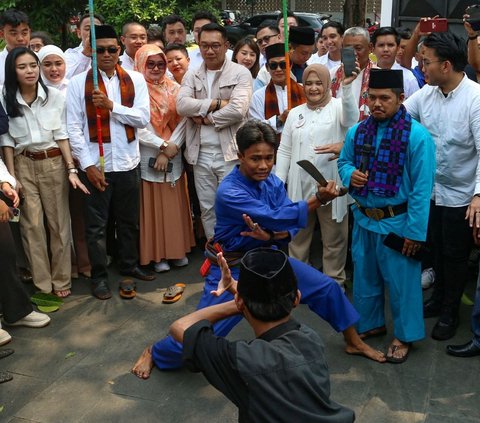
[[[14,323],[33,311],[18,278],[15,242],[8,223],[0,223],[0,305],[3,318]]]

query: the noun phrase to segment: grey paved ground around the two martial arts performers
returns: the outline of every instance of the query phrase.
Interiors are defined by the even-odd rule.
[[[138,282],[138,296],[131,301],[117,295],[120,277],[114,270],[114,296],[108,301],[90,296],[88,280],[75,280],[73,295],[51,315],[48,327],[9,329],[13,340],[8,347],[15,354],[0,361],[0,370],[11,372],[14,379],[0,385],[0,422],[237,421],[236,408],[202,375],[154,370],[149,380],[141,381],[129,373],[146,345],[165,335],[173,320],[194,310],[203,286],[201,260],[196,250],[188,267],[153,282]],[[183,298],[162,304],[163,291],[176,282],[187,284]],[[461,325],[450,342],[470,338],[470,312],[471,307],[462,306]],[[427,337],[414,345],[406,363],[380,365],[344,354],[342,336],[305,306],[295,317],[324,339],[332,397],[353,408],[357,422],[480,421],[480,357],[447,356],[449,342]],[[426,321],[427,333],[433,324],[434,319]],[[230,338],[252,336],[242,322]],[[385,349],[389,339],[387,335],[371,344]]]

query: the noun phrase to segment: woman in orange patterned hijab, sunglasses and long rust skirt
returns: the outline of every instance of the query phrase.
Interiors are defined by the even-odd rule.
[[[185,120],[175,108],[180,86],[166,77],[166,67],[167,58],[156,45],[146,44],[135,55],[135,68],[147,81],[151,113],[149,125],[139,131],[140,264],[153,261],[156,272],[170,270],[168,260],[186,266],[186,253],[195,245],[181,155],[169,162],[162,152],[174,131],[175,136],[185,132]]]

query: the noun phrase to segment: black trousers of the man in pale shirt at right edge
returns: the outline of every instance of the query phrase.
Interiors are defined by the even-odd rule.
[[[458,314],[468,280],[468,258],[473,244],[472,228],[465,220],[465,207],[430,204],[435,284],[432,299],[442,304],[442,313]]]

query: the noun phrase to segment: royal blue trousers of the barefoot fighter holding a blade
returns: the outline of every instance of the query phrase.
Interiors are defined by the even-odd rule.
[[[339,285],[330,277],[313,267],[290,258],[293,271],[297,277],[298,289],[302,293],[301,302],[327,321],[337,332],[344,331],[354,325],[359,318],[358,313],[348,301]],[[239,268],[231,269],[232,277],[238,279]],[[210,294],[216,290],[221,278],[218,266],[212,265],[210,273],[205,278],[203,295],[198,303],[197,310],[215,304],[225,303],[233,299],[229,292],[220,297]],[[217,336],[226,336],[242,319],[241,315],[229,317],[213,325]],[[182,366],[182,344],[171,336],[158,341],[153,345],[152,357],[159,369],[176,369]]]

